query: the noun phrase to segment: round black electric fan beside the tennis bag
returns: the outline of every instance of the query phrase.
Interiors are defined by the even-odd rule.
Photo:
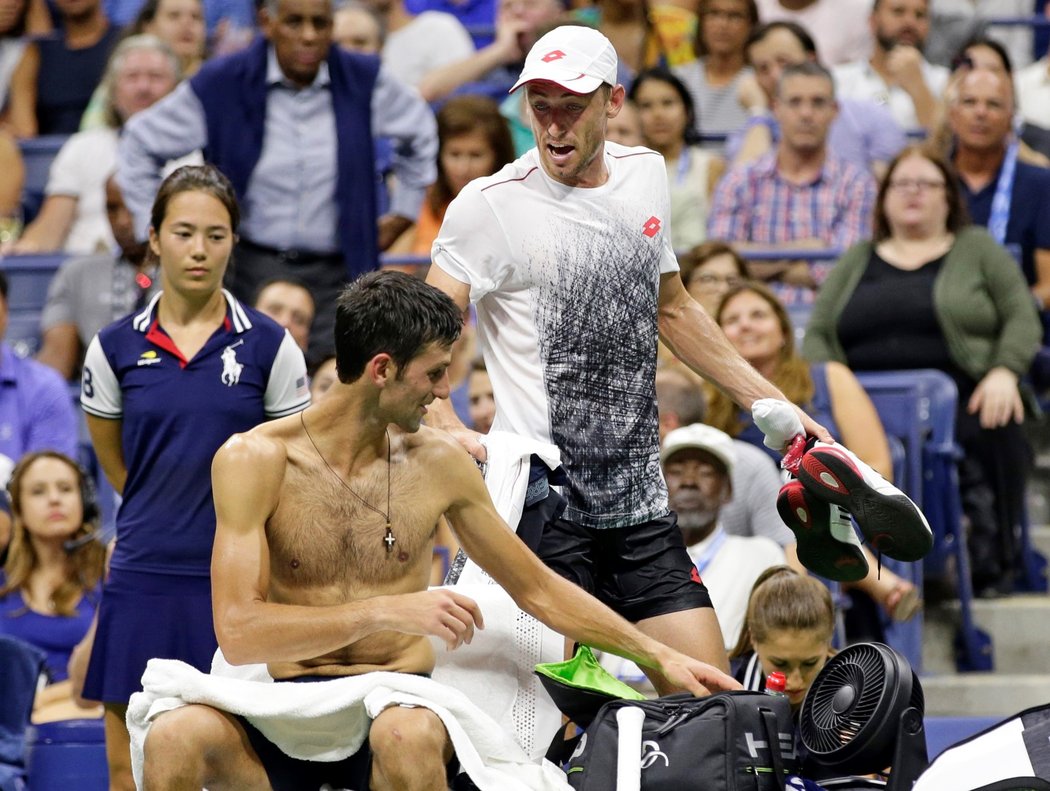
[[[873,788],[854,776],[892,767],[885,788],[908,791],[929,763],[924,710],[919,679],[896,650],[882,643],[842,649],[802,703],[806,776],[826,788]]]

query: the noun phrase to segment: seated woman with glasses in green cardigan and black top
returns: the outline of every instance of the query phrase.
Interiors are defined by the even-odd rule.
[[[821,288],[803,354],[854,371],[939,369],[959,388],[960,490],[974,589],[1012,590],[1030,450],[1018,388],[1042,328],[1021,269],[968,225],[948,163],[920,147],[889,164],[875,237]]]

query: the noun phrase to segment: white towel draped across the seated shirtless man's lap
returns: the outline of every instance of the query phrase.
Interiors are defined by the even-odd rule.
[[[546,761],[531,763],[496,721],[463,693],[430,679],[372,672],[308,684],[275,684],[265,665],[231,668],[217,657],[210,674],[176,660],[150,660],[142,681],[143,691],[131,695],[127,712],[139,788],[143,747],[153,720],[180,706],[203,703],[245,716],[287,754],[307,761],[344,758],[358,750],[371,720],[383,709],[420,706],[441,717],[460,765],[481,791],[570,789],[558,767]]]

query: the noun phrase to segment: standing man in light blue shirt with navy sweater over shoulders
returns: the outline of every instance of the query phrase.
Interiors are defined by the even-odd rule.
[[[201,148],[233,183],[244,222],[228,273],[250,300],[278,277],[317,301],[311,356],[333,350],[334,304],[349,277],[378,267],[434,181],[429,107],[370,56],[332,43],[331,0],[268,0],[264,38],[205,64],[139,113],[121,141],[118,182],[145,237],[161,165]],[[394,141],[397,189],[378,215],[374,142]]]

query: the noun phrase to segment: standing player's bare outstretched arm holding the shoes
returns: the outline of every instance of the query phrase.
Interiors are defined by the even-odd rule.
[[[788,400],[739,355],[714,319],[686,291],[677,272],[660,276],[657,320],[660,339],[675,356],[744,409],[750,410],[759,398]],[[798,407],[795,409],[807,434],[832,441],[827,429]]]

